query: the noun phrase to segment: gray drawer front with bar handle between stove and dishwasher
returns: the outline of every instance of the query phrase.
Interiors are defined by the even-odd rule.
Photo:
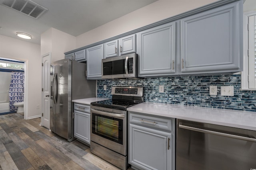
[[[129,112],[129,123],[150,127],[153,129],[172,131],[172,120],[173,119],[170,118],[155,117],[151,115],[142,115]]]

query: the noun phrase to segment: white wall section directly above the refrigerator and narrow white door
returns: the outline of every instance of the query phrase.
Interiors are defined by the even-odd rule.
[[[64,53],[76,49],[76,37],[50,28],[41,34],[41,55],[51,52],[51,61],[65,58]]]

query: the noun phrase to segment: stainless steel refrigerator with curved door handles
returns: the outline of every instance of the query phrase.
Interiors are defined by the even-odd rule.
[[[86,63],[70,59],[52,63],[50,74],[50,129],[68,141],[73,141],[72,100],[95,97],[96,81],[86,79]]]

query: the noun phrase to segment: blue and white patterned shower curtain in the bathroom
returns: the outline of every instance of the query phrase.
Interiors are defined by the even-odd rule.
[[[24,101],[24,72],[12,72],[9,98],[10,111],[17,111],[18,107],[13,106],[16,102]]]

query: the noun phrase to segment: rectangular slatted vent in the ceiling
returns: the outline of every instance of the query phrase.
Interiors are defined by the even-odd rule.
[[[8,8],[12,8],[22,14],[26,14],[36,19],[47,11],[46,8],[31,0],[0,0],[0,2],[3,6],[7,6]]]

